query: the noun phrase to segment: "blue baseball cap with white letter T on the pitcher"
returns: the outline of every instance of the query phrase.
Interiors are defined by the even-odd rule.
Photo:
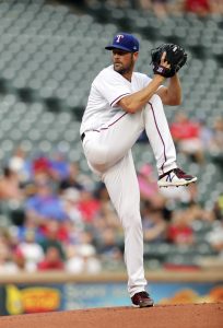
[[[106,50],[120,49],[128,52],[139,51],[139,40],[128,33],[118,33],[113,39],[113,44],[105,47]]]

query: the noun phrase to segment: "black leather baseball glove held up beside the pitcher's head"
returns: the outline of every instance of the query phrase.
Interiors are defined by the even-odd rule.
[[[166,52],[166,61],[171,68],[161,66],[161,58],[163,52]],[[176,72],[187,62],[187,54],[184,48],[174,44],[163,44],[160,47],[151,50],[151,63],[153,66],[154,74],[163,75],[164,78],[172,78]]]

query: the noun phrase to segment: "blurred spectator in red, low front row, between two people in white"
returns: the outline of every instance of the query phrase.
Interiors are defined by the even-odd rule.
[[[57,247],[49,246],[43,261],[38,263],[38,270],[62,270],[64,263]]]

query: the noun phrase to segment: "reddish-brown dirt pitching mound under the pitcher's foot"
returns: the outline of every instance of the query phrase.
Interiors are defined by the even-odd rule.
[[[222,304],[110,307],[1,317],[1,328],[220,328]]]

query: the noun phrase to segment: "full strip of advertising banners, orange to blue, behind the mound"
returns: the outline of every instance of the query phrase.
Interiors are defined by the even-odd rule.
[[[156,304],[223,302],[223,283],[149,282]],[[0,285],[0,315],[131,306],[124,282]]]

